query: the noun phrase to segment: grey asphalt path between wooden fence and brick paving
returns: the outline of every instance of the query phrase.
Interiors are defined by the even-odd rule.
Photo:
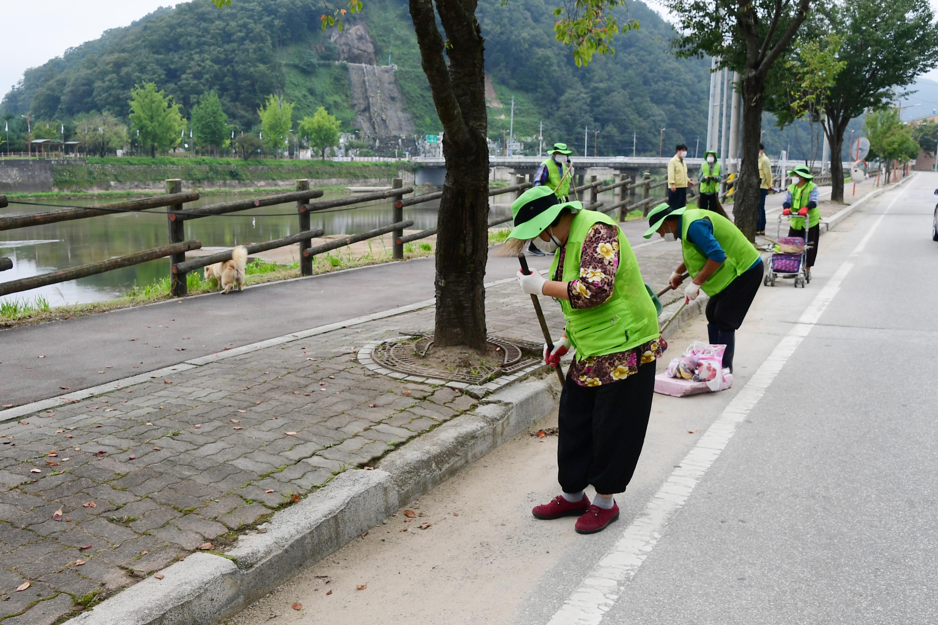
[[[537,269],[550,260],[529,257]],[[517,271],[518,260],[493,257],[486,280]],[[62,394],[61,387],[87,388],[428,300],[433,278],[432,259],[408,260],[3,330],[0,404],[45,399]]]

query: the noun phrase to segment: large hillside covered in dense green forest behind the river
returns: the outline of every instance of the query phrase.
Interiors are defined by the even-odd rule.
[[[675,59],[668,52],[670,25],[635,2],[629,17],[641,28],[617,39],[615,55],[575,67],[553,38],[554,6],[544,0],[479,3],[497,96],[489,109],[492,139],[501,140],[515,97],[515,133],[522,138],[536,136],[543,121],[546,142],[567,141],[579,152],[588,127],[590,153],[599,130],[600,155],[630,154],[633,134],[639,154],[657,154],[665,127],[665,153],[681,140],[693,149],[706,122],[708,64]],[[295,102],[295,119],[325,106],[347,130],[355,118],[348,72],[337,62],[333,33],[320,29],[321,12],[313,0],[234,0],[220,10],[209,0],[194,0],[159,9],[28,70],[0,112],[10,121],[31,112],[39,121],[64,122],[68,131],[68,121],[83,113],[126,119],[129,90],[156,82],[182,105],[184,116],[202,94],[215,90],[229,121],[248,131],[257,126],[264,98],[280,92]],[[438,132],[406,1],[373,0],[361,20],[377,63],[389,58],[398,67],[403,104],[417,132]]]

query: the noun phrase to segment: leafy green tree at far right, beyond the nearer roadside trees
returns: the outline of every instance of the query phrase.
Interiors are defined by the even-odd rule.
[[[938,64],[938,28],[928,0],[845,0],[819,6],[812,37],[836,32],[846,66],[825,97],[831,200],[843,201],[840,154],[847,125],[895,99],[901,88]],[[870,140],[871,141],[871,140]]]

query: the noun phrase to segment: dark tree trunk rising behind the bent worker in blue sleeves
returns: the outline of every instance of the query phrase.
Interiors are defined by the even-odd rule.
[[[758,74],[749,75],[743,81],[742,86],[744,102],[742,167],[739,170],[739,182],[733,198],[733,219],[736,228],[742,231],[749,241],[754,241],[761,197],[759,141],[762,137],[765,79]]]

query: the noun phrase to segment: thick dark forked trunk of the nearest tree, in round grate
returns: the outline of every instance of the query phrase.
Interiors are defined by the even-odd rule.
[[[436,0],[435,9],[431,0],[410,0],[421,64],[444,130],[446,179],[437,218],[434,343],[484,350],[483,283],[489,249],[485,40],[475,0]]]

